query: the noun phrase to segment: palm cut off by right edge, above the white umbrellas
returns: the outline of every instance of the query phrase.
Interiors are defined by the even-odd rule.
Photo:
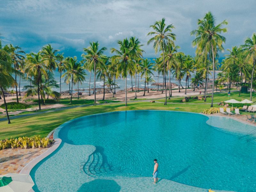
[[[250,91],[250,100],[252,100],[252,80],[253,80],[253,74],[254,74],[254,69],[256,64],[256,33],[252,34],[252,39],[248,37],[245,40],[244,45],[242,45],[242,48],[244,48],[244,50],[248,54],[247,60],[251,60],[253,62],[252,75],[251,75],[251,91]]]

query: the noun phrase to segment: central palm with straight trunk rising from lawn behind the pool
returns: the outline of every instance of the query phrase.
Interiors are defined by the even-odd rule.
[[[139,41],[137,39],[137,41]],[[113,56],[114,62],[117,64],[117,74],[121,74],[125,78],[125,106],[127,106],[127,71],[128,64],[132,62],[132,59],[140,49],[140,42],[137,45],[132,44],[131,38],[130,41],[125,38],[123,41],[118,40],[117,44],[119,45],[119,50],[111,48],[111,53],[116,53]]]

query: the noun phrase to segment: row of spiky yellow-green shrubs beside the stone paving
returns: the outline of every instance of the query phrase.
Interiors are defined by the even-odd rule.
[[[41,138],[40,136],[35,136],[32,138],[28,137],[19,137],[15,139],[5,139],[0,140],[0,150],[5,148],[47,148],[49,144],[51,144],[53,140],[49,138]]]

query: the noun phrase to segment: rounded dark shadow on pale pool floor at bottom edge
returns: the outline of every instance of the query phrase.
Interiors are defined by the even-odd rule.
[[[92,180],[89,183],[84,183],[77,192],[84,191],[97,191],[97,192],[105,192],[105,191],[120,191],[121,187],[114,180],[106,180],[106,179],[96,179]]]

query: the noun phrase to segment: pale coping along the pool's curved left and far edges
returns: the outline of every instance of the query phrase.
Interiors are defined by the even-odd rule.
[[[111,111],[111,112],[104,112],[104,113],[97,113],[97,114],[91,114],[91,115],[87,115],[87,116],[95,116],[95,115],[102,115],[102,114],[106,114],[106,113],[115,113],[115,112],[125,112],[125,111],[171,111],[171,112],[183,112],[183,113],[194,113],[194,114],[200,114],[200,115],[204,115],[204,116],[207,116],[207,117],[214,117],[212,115],[208,115],[208,114],[203,114],[203,113],[196,113],[196,112],[188,112],[188,111],[175,111],[175,110],[156,110],[156,109],[149,109],[149,110],[122,110],[122,111]],[[71,119],[63,124],[61,124],[60,126],[56,127],[55,129],[53,129],[48,135],[47,137],[49,137],[52,133],[53,133],[53,138],[55,140],[54,144],[47,150],[45,151],[43,154],[41,154],[40,156],[36,157],[35,159],[33,159],[32,161],[30,161],[21,171],[20,173],[22,174],[30,174],[31,170],[33,169],[34,166],[36,166],[37,163],[39,163],[41,160],[43,160],[45,157],[49,156],[52,152],[54,152],[61,144],[62,140],[60,138],[57,138],[56,136],[59,134],[59,131],[63,128],[64,125],[72,122],[72,121],[75,121],[77,119],[80,119],[80,118],[83,118],[85,116],[81,116],[81,117],[77,117],[77,118],[74,118],[74,119]],[[246,122],[243,122],[239,119],[234,119],[234,118],[231,118],[229,116],[216,116],[216,117],[224,117],[224,118],[230,118],[230,119],[233,119],[235,121],[238,121],[240,123],[244,123],[244,124],[248,124],[248,125],[251,125],[251,126],[254,126],[256,127],[256,125],[252,125],[252,124],[249,124],[249,123],[246,123]],[[226,129],[225,129],[226,130]],[[230,130],[227,130],[228,132],[232,132]],[[171,180],[172,181],[172,180]],[[173,182],[176,182],[176,181],[173,181]],[[179,183],[179,182],[177,182]],[[190,186],[190,187],[195,187],[195,188],[200,188],[200,187],[196,187],[196,186],[191,186],[191,185],[187,185],[187,184],[184,184],[184,183],[179,183],[181,185],[186,185],[186,186]],[[204,188],[200,188],[200,189],[204,189]],[[222,190],[215,190],[215,191],[222,191]],[[33,190],[33,188],[31,188],[28,192],[35,192]]]

